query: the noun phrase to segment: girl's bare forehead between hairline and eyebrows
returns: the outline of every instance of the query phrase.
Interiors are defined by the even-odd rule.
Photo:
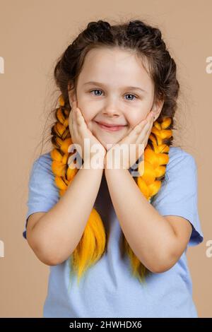
[[[131,85],[152,89],[153,82],[149,76],[148,61],[136,56],[126,49],[98,48],[91,49],[84,59],[78,83],[87,81],[103,82],[106,85]]]

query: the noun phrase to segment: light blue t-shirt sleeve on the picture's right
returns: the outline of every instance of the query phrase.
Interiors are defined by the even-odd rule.
[[[187,247],[203,242],[204,235],[198,213],[198,180],[196,161],[185,152],[172,153],[167,163],[165,182],[151,203],[161,215],[179,215],[192,224]]]

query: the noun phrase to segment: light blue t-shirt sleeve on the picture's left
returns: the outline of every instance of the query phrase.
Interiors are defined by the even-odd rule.
[[[28,211],[25,215],[25,230],[23,237],[26,239],[28,217],[35,212],[47,212],[59,200],[59,189],[54,183],[52,172],[52,158],[49,153],[41,155],[33,163],[28,182]]]

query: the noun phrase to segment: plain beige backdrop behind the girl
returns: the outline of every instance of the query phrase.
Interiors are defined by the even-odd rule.
[[[181,86],[176,142],[196,159],[199,217],[204,242],[187,253],[194,302],[200,317],[212,316],[212,257],[206,256],[211,227],[211,88],[206,58],[212,57],[212,1],[1,0],[1,225],[0,316],[42,316],[49,267],[22,232],[28,176],[40,154],[45,122],[58,96],[52,74],[57,57],[90,20],[145,19],[158,26],[178,66]],[[48,136],[45,134],[45,136]],[[51,149],[43,147],[42,153]]]

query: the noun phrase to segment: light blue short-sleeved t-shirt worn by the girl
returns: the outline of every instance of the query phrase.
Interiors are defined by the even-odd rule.
[[[151,204],[161,215],[179,215],[192,224],[189,246],[204,239],[198,214],[197,172],[194,157],[178,147],[170,147],[165,182]],[[49,211],[59,200],[54,184],[50,153],[37,158],[30,172],[28,212]],[[130,169],[129,172],[132,170]],[[104,174],[104,173],[103,173]],[[198,317],[192,300],[192,278],[186,252],[170,270],[152,273],[144,286],[131,275],[129,257],[121,256],[121,228],[114,212],[105,176],[102,177],[95,207],[102,217],[105,230],[110,232],[107,252],[88,269],[77,285],[71,274],[69,259],[49,266],[49,284],[44,317]],[[26,231],[23,232],[25,237]]]

